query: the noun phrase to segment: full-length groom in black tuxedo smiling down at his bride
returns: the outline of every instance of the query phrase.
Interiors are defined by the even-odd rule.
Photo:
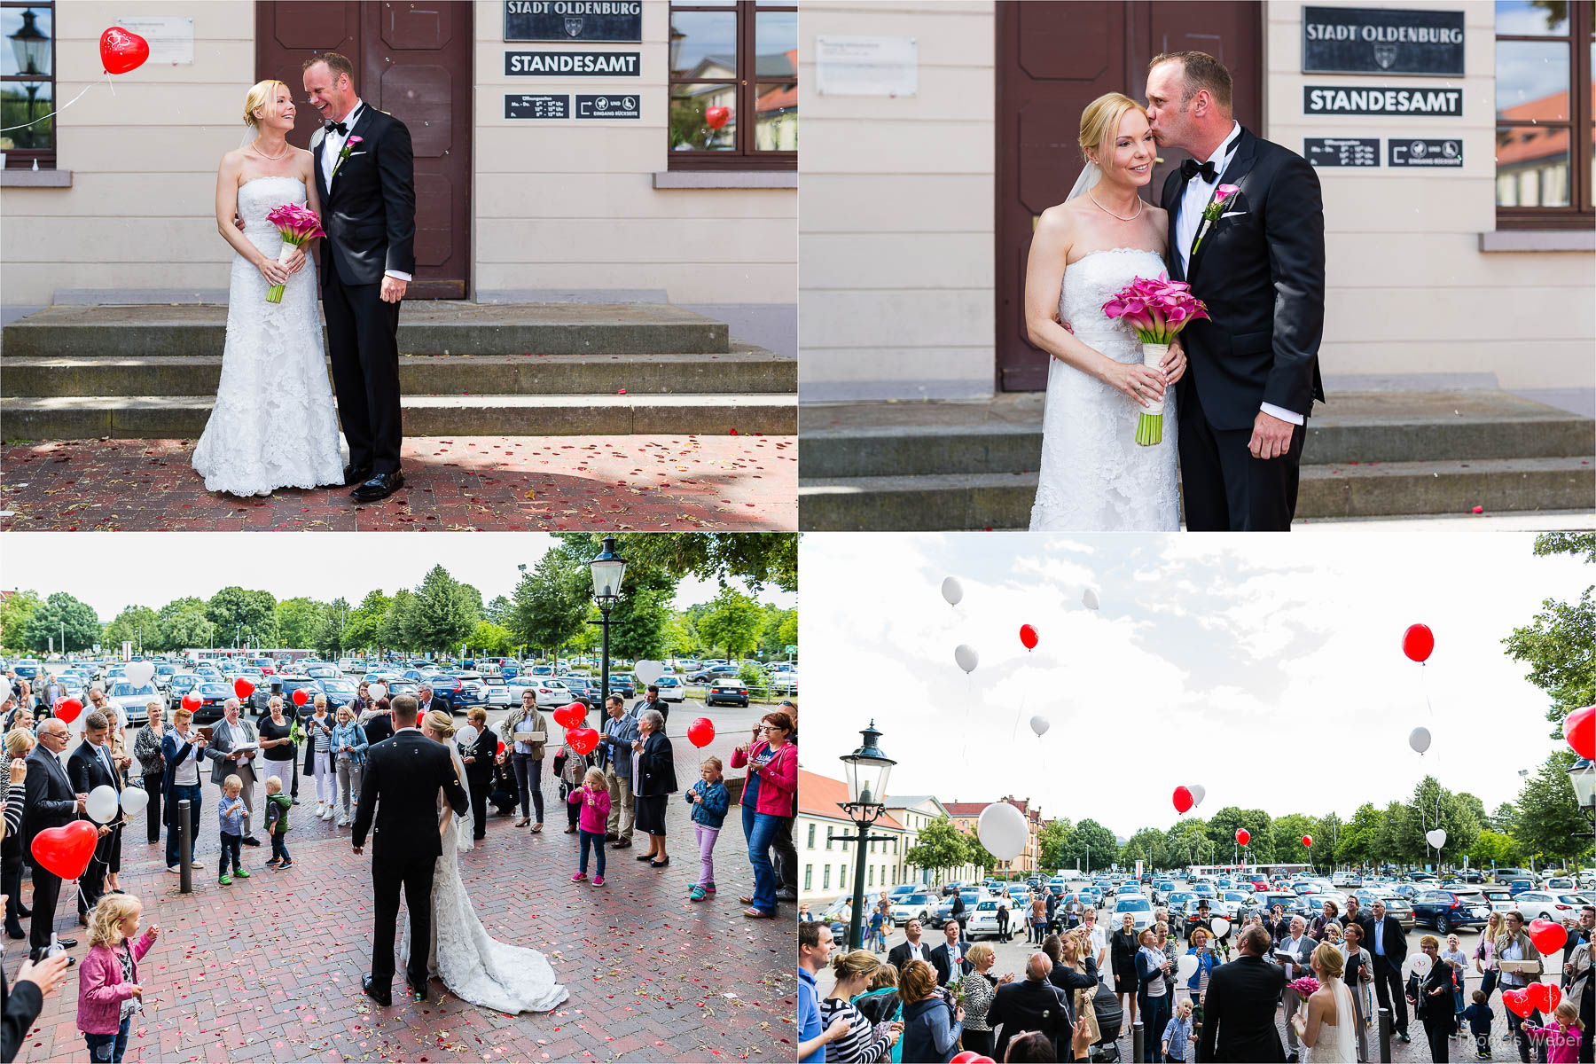
[[[343,487],[377,502],[399,472],[399,301],[415,273],[415,171],[405,124],[361,100],[354,67],[335,51],[305,61],[305,93],[326,120],[311,137],[338,421],[350,442]]]

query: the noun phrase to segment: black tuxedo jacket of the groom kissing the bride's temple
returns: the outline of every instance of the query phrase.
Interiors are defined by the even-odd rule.
[[[1318,343],[1325,330],[1325,207],[1318,174],[1296,152],[1246,129],[1219,177],[1238,185],[1203,236],[1189,268],[1175,244],[1186,180],[1163,182],[1170,215],[1170,278],[1208,306],[1181,332],[1191,367],[1176,384],[1197,391],[1215,429],[1251,429],[1262,404],[1307,416],[1325,400]],[[1199,227],[1200,230],[1200,227]]]

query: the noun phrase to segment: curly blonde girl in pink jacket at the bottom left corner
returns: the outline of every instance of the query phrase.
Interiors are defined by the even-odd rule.
[[[89,952],[78,970],[78,1031],[94,1064],[121,1061],[132,1015],[144,1010],[139,962],[150,952],[161,927],[150,924],[134,944],[131,940],[139,933],[142,914],[144,903],[131,893],[109,893],[89,919]]]

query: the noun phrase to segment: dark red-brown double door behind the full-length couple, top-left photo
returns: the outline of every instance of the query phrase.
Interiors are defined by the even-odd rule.
[[[399,118],[415,152],[415,281],[405,298],[471,290],[471,37],[466,0],[257,0],[255,80],[276,78],[298,105],[289,140],[310,147],[321,115],[300,67],[337,51],[361,99]]]

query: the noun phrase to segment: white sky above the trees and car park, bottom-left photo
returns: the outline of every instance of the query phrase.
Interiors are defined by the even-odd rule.
[[[330,601],[343,595],[359,605],[373,587],[389,595],[401,587],[413,589],[440,563],[456,581],[480,590],[482,601],[493,601],[516,590],[517,565],[535,568],[557,544],[543,533],[6,536],[0,587],[32,589],[46,597],[67,592],[94,606],[101,622],[109,622],[128,605],[160,609],[185,595],[209,598],[231,584],[271,592],[278,600],[303,595]],[[742,581],[733,584],[747,590]],[[685,609],[718,592],[715,581],[685,577],[672,605]],[[798,605],[795,592],[771,584],[755,598],[784,609]]]

